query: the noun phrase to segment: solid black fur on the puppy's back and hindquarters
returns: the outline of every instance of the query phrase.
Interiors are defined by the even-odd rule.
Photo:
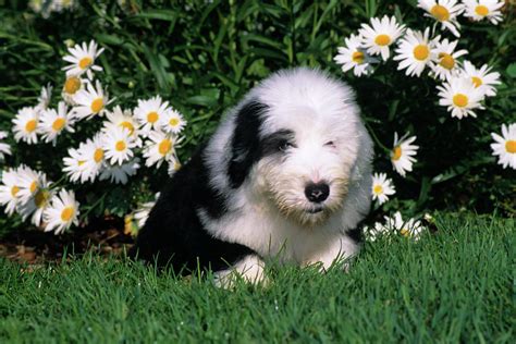
[[[223,270],[254,254],[246,246],[211,236],[199,220],[199,208],[212,218],[219,218],[226,210],[224,199],[208,183],[202,148],[162,191],[138,233],[131,256],[156,261],[159,267],[171,265],[177,273],[189,273],[197,268]]]

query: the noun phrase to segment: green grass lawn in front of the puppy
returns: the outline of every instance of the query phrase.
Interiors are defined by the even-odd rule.
[[[367,244],[349,273],[272,268],[219,290],[119,258],[0,262],[0,342],[515,341],[515,221],[438,217],[438,233]]]

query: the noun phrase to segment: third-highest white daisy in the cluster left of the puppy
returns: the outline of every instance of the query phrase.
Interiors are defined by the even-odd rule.
[[[108,98],[108,94],[103,91],[99,81],[96,82],[95,88],[91,83],[87,83],[86,88],[87,90],[82,89],[73,97],[73,101],[76,103],[73,114],[78,120],[105,114],[106,107],[114,100]]]

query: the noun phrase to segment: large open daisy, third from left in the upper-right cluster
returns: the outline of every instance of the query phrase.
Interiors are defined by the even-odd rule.
[[[396,49],[397,54],[394,57],[394,60],[400,61],[398,71],[406,69],[405,74],[408,76],[421,75],[425,67],[437,57],[433,49],[440,36],[430,40],[429,34],[430,28],[428,27],[425,33],[407,29]]]

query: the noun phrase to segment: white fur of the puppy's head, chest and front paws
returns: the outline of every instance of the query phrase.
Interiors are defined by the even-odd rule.
[[[259,137],[288,130],[295,146],[283,156],[262,158],[234,189],[226,174],[231,138],[236,114],[250,99],[268,106]],[[210,218],[205,209],[197,210],[214,237],[245,245],[263,258],[278,257],[302,266],[320,261],[324,268],[358,250],[346,232],[369,211],[372,143],[354,94],[345,84],[309,69],[274,74],[230,111],[204,158],[210,184],[228,206],[219,219]],[[305,196],[310,182],[330,186],[321,206]],[[316,206],[322,210],[312,211]],[[259,258],[253,257],[242,263],[258,267]],[[259,271],[256,267],[249,273],[241,263],[234,268],[253,277]]]

